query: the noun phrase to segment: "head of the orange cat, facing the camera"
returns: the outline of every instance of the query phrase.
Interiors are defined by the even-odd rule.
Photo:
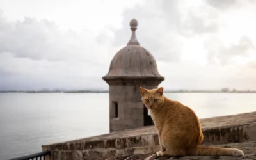
[[[156,88],[148,90],[146,88],[140,87],[141,100],[145,106],[149,109],[156,109],[157,106],[161,106],[164,102],[163,96],[164,88]]]

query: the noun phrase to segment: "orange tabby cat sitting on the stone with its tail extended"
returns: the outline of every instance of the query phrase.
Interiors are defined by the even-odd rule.
[[[141,99],[156,125],[160,151],[157,156],[243,156],[237,148],[200,147],[204,136],[195,112],[163,95],[163,87],[147,90],[140,87]],[[166,148],[166,150],[164,150]]]

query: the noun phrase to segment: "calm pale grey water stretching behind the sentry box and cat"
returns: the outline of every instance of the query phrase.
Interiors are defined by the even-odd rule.
[[[166,93],[199,118],[256,111],[256,93]],[[109,131],[108,93],[0,93],[0,160]]]

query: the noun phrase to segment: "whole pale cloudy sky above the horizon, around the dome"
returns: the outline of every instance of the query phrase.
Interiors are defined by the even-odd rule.
[[[0,90],[108,90],[136,36],[165,90],[256,90],[254,0],[0,0]]]

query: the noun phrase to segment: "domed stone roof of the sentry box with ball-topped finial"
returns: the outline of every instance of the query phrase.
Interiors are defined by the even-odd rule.
[[[130,22],[132,36],[127,46],[120,49],[113,57],[109,72],[102,79],[159,79],[164,80],[157,70],[155,58],[147,49],[140,46],[135,31],[138,26],[136,19]]]

